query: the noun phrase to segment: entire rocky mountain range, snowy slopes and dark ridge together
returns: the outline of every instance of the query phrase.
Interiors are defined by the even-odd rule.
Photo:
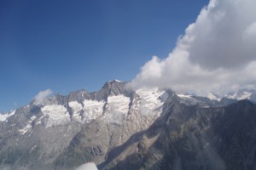
[[[253,169],[256,106],[209,97],[113,80],[32,101],[0,114],[0,169]]]

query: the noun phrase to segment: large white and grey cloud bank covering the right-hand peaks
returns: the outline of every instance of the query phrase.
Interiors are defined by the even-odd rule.
[[[255,0],[210,0],[172,53],[149,60],[131,87],[195,94],[256,88],[255,7]]]

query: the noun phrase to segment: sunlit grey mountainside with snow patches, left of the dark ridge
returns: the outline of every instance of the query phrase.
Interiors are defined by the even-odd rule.
[[[125,88],[125,82],[114,80],[98,92],[79,90],[67,96],[56,94],[40,104],[32,101],[0,115],[0,163],[24,169],[36,168],[36,162],[42,169],[81,165],[92,157],[72,165],[60,164],[60,157],[84,128],[95,123],[100,125],[92,128],[95,132],[90,137],[96,145],[88,150],[96,157],[93,161],[100,163],[108,150],[148,128],[160,116],[167,97],[166,90],[134,92]]]

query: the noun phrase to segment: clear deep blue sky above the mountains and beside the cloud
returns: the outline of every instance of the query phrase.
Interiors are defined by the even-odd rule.
[[[0,111],[39,91],[96,91],[160,59],[208,0],[2,0]]]

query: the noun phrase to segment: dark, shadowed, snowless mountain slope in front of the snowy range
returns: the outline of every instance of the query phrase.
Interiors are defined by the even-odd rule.
[[[202,108],[172,99],[137,150],[110,169],[255,169],[256,105]],[[152,144],[151,141],[154,141]]]

